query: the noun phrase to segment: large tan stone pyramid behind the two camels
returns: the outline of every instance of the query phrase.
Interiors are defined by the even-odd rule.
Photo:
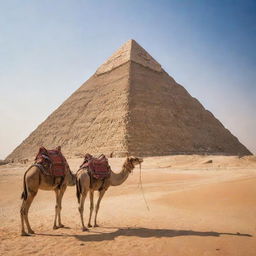
[[[67,156],[251,154],[134,40],[7,158],[31,158],[41,145],[61,145]]]

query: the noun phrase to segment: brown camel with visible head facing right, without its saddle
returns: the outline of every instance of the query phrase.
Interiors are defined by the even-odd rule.
[[[127,157],[121,172],[114,173],[111,171],[110,178],[105,181],[97,180],[93,182],[92,187],[90,188],[90,176],[87,173],[87,169],[80,169],[76,174],[76,189],[77,189],[77,199],[79,203],[78,210],[80,212],[81,222],[82,222],[82,231],[88,230],[88,228],[84,225],[83,212],[84,212],[84,201],[87,193],[90,193],[90,216],[88,227],[92,227],[91,225],[91,217],[94,208],[93,196],[94,191],[99,191],[99,198],[96,204],[96,212],[94,218],[94,227],[98,227],[97,225],[97,215],[100,207],[101,199],[103,198],[105,192],[109,188],[109,186],[119,186],[124,183],[124,181],[128,178],[129,174],[135,168],[135,165],[139,165],[143,162],[142,158],[137,157]]]

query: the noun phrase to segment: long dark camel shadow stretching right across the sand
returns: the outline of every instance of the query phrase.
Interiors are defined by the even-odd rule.
[[[107,227],[105,227],[107,228]],[[114,229],[114,228],[109,228]],[[150,228],[117,228],[113,232],[98,232],[97,230],[92,230],[93,234],[86,232],[83,235],[68,235],[68,234],[38,234],[45,236],[72,236],[76,239],[84,242],[101,242],[106,240],[114,240],[119,236],[136,236],[142,238],[148,237],[177,237],[177,236],[213,236],[219,237],[221,235],[228,236],[245,236],[252,237],[250,234],[241,234],[241,233],[219,233],[215,231],[194,231],[194,230],[174,230],[174,229],[150,229]]]

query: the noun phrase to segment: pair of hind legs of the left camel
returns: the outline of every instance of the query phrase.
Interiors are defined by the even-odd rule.
[[[33,201],[33,199],[35,198],[37,194],[37,191],[29,191],[28,192],[28,197],[26,200],[23,200],[22,202],[22,206],[21,206],[21,210],[20,210],[20,213],[21,213],[21,235],[27,235],[27,233],[25,232],[24,230],[24,220],[25,220],[25,223],[26,223],[26,226],[27,226],[27,229],[28,229],[28,233],[30,234],[34,234],[35,232],[32,230],[30,224],[29,224],[29,221],[28,221],[28,211],[29,211],[29,208],[30,208],[30,205]]]

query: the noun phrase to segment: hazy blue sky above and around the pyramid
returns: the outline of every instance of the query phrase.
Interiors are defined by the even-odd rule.
[[[131,38],[256,153],[255,1],[0,3],[0,159]]]

